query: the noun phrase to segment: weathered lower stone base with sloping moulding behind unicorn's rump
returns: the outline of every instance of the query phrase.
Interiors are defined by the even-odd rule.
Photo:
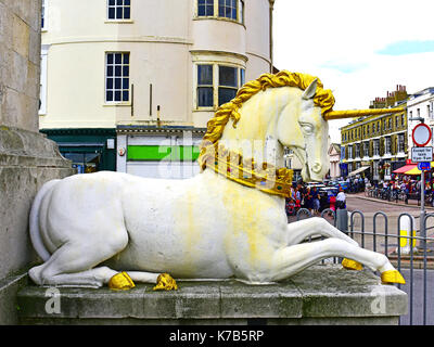
[[[44,182],[75,172],[53,141],[0,125],[0,324],[17,323],[16,292],[38,261],[28,232],[33,200]]]

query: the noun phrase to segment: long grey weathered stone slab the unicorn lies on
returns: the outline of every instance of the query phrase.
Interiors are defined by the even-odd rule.
[[[23,324],[397,324],[407,295],[382,285],[369,270],[308,268],[283,283],[179,281],[177,292],[138,284],[128,292],[106,287],[58,288],[60,313],[48,313],[46,287],[27,285],[17,297]],[[54,307],[49,303],[48,307]]]

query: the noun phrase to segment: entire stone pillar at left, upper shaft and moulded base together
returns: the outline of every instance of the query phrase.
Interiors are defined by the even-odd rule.
[[[0,0],[0,324],[14,324],[16,291],[38,261],[28,235],[37,190],[73,175],[39,133],[40,0]]]

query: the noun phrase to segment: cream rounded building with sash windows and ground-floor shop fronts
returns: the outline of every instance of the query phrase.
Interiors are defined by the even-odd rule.
[[[218,105],[272,70],[272,4],[44,0],[41,131],[80,170],[193,175]]]

